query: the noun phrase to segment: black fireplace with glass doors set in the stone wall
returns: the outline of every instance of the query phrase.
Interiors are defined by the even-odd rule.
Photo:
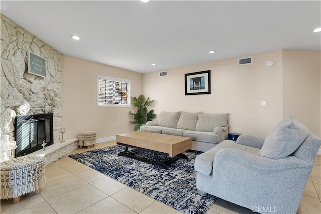
[[[54,143],[53,114],[18,115],[15,122],[15,157],[24,156]]]

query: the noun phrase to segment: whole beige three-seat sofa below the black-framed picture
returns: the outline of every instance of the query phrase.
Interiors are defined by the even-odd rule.
[[[191,137],[192,150],[205,152],[227,138],[228,116],[228,113],[162,111],[157,121],[147,122],[140,131]]]

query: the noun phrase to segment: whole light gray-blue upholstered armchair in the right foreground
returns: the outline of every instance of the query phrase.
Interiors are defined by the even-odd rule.
[[[296,213],[321,140],[293,117],[197,156],[197,188],[259,213]]]

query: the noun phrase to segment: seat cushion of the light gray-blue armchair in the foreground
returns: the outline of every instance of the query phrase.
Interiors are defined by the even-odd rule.
[[[213,170],[213,161],[216,153],[221,149],[226,149],[226,148],[239,149],[255,155],[257,155],[260,151],[260,149],[258,148],[237,144],[232,140],[224,140],[223,142],[217,144],[217,146],[215,146],[214,148],[198,155],[195,159],[194,169],[197,172],[204,174],[206,176],[211,175]]]

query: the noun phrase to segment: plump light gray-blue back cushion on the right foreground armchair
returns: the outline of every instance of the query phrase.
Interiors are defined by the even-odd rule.
[[[308,128],[293,117],[285,118],[266,136],[260,155],[284,158],[295,152],[309,134]]]

